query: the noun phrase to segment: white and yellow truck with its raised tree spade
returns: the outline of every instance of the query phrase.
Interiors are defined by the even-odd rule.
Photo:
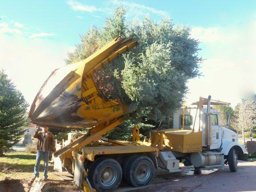
[[[103,135],[122,124],[136,103],[106,100],[94,74],[125,51],[135,48],[133,38],[119,36],[79,62],[53,71],[35,97],[29,117],[38,126],[55,129],[88,129],[69,133],[54,153],[54,169],[73,174],[74,184],[85,192],[112,192],[126,180],[147,185],[159,169],[180,172],[179,163],[200,168],[237,171],[237,159],[246,155],[237,133],[220,126],[214,105],[229,103],[200,97],[194,107],[183,107],[173,115],[173,128],[152,130],[140,141],[139,127],[133,141],[111,140]]]

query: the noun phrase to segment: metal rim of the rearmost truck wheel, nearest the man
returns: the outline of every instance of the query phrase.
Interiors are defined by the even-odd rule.
[[[112,185],[116,181],[116,178],[117,172],[113,167],[106,167],[100,173],[100,181],[106,187]]]

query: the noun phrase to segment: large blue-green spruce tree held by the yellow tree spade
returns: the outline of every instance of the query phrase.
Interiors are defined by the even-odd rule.
[[[125,11],[118,7],[103,28],[91,27],[68,53],[66,63],[85,59],[117,36],[133,37],[138,46],[95,73],[94,80],[105,99],[137,102],[130,120],[165,118],[180,107],[187,81],[199,75],[199,42],[190,36],[188,26],[174,25],[170,17],[158,23],[149,15],[127,21]]]

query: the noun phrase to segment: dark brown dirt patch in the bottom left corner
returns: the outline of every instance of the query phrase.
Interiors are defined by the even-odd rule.
[[[27,192],[28,181],[27,180],[14,180],[11,178],[5,178],[0,181],[0,192]]]

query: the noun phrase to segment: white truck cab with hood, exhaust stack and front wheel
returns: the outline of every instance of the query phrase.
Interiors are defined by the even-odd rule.
[[[221,121],[219,111],[213,107],[214,105],[227,104],[229,103],[211,100],[210,96],[207,99],[200,97],[199,102],[194,103],[197,107],[183,106],[174,113],[174,129],[202,131],[203,150],[198,153],[200,154],[198,156],[191,155],[191,162],[202,162],[206,154],[212,153],[212,155],[215,154],[221,159],[224,158],[224,163],[230,165],[231,171],[236,171],[237,159],[247,160],[245,146],[238,143],[237,133],[229,129],[229,120]],[[207,167],[207,163],[205,165],[199,167]],[[215,165],[212,165],[212,167],[215,167]]]

